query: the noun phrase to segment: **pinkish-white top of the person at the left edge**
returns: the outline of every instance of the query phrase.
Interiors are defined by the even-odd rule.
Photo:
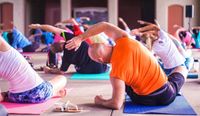
[[[31,90],[43,82],[26,59],[12,47],[6,52],[0,51],[0,78],[8,81],[12,93]]]

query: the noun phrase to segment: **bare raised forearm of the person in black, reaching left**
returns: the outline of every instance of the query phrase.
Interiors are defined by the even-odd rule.
[[[41,25],[41,24],[31,24],[29,25],[29,28],[31,29],[42,29],[42,30],[45,30],[45,31],[48,31],[48,32],[52,32],[52,33],[55,33],[55,34],[60,34],[66,30],[64,29],[60,29],[60,28],[57,28],[57,27],[54,27],[54,26],[51,26],[51,25]]]

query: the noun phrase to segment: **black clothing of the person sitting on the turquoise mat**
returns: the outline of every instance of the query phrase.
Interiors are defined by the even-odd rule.
[[[73,34],[64,32],[67,40],[74,37]],[[62,34],[63,35],[63,34]],[[107,71],[108,66],[93,61],[88,55],[89,45],[84,41],[77,51],[64,49],[61,70],[66,71],[70,64],[74,64],[79,73],[102,73]]]

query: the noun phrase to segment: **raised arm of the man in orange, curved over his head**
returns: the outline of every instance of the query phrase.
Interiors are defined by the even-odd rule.
[[[128,37],[128,34],[120,29],[119,27],[108,23],[108,22],[100,22],[93,26],[91,26],[86,32],[83,34],[72,38],[71,40],[67,41],[67,45],[65,46],[68,50],[77,49],[81,42],[85,39],[97,35],[101,32],[104,32],[110,39],[116,41],[122,37]]]

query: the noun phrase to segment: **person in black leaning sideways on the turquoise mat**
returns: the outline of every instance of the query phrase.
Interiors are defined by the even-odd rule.
[[[70,40],[71,38],[75,37],[74,34],[71,34],[63,29],[56,28],[51,25],[31,24],[29,25],[29,27],[48,30],[50,32],[61,35],[65,38],[65,40]],[[108,65],[95,62],[89,57],[87,53],[89,45],[85,41],[81,44],[77,51],[64,49],[64,44],[65,42],[57,42],[51,46],[52,53],[64,51],[62,64],[60,69],[44,67],[44,71],[46,73],[64,74],[64,72],[68,70],[71,64],[75,65],[75,69],[78,73],[96,74],[108,71]]]

